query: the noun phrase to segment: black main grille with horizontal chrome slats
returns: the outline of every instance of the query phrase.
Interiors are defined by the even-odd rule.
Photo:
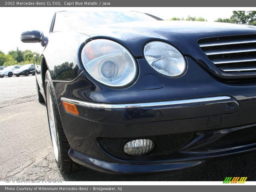
[[[198,44],[224,72],[256,72],[256,34],[205,38]]]

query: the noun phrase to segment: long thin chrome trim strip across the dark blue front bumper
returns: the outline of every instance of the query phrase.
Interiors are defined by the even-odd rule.
[[[167,105],[180,105],[188,103],[201,103],[208,101],[219,101],[231,99],[228,96],[218,96],[218,97],[206,97],[199,99],[188,99],[188,100],[173,100],[173,101],[161,101],[161,102],[151,102],[151,103],[131,103],[131,104],[103,104],[103,103],[89,103],[85,101],[78,101],[68,98],[61,98],[61,101],[72,103],[81,107],[89,108],[106,108],[106,109],[120,109],[120,108],[141,108],[141,107],[156,107],[156,106],[167,106]]]

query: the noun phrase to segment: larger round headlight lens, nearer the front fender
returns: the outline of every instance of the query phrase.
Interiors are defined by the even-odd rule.
[[[137,67],[131,53],[114,41],[92,40],[84,45],[81,57],[85,70],[102,84],[121,87],[136,76]]]

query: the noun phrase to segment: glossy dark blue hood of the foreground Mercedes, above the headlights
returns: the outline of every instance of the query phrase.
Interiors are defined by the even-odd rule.
[[[136,21],[94,26],[80,33],[92,38],[108,38],[120,42],[135,56],[142,55],[142,46],[150,40],[162,40],[178,47],[183,54],[198,48],[198,39],[214,36],[256,34],[254,26],[203,21]]]

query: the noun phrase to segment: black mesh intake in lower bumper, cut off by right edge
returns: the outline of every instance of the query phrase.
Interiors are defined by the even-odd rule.
[[[256,142],[256,126],[238,129],[227,133],[219,140],[217,140],[213,145],[221,146],[221,148],[223,148],[228,145],[240,146],[254,142]]]

